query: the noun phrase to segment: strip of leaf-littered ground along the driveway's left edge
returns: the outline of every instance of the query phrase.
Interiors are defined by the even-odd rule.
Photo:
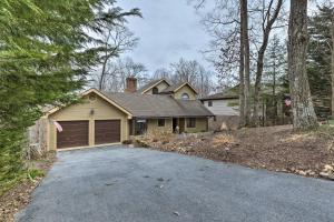
[[[29,164],[31,169],[38,170],[46,175],[55,160],[56,153],[49,153],[41,160],[32,161]],[[30,202],[31,193],[42,181],[43,175],[38,175],[33,179],[27,176],[13,189],[0,196],[0,222],[14,221],[14,214]]]

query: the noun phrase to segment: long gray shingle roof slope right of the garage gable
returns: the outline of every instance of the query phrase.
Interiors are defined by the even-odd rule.
[[[175,100],[163,94],[106,93],[137,118],[213,117],[197,100]]]

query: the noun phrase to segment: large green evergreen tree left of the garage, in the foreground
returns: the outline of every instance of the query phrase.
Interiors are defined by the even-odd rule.
[[[0,1],[0,183],[20,169],[24,132],[45,105],[76,99],[102,50],[96,36],[138,9],[115,0]]]

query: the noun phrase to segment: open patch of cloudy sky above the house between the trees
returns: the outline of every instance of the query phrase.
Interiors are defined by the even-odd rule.
[[[199,52],[209,37],[199,23],[199,16],[187,0],[118,0],[125,10],[139,8],[144,19],[129,19],[129,29],[140,38],[138,47],[127,53],[135,62],[144,63],[149,74],[168,68],[180,57],[198,60],[212,69]]]

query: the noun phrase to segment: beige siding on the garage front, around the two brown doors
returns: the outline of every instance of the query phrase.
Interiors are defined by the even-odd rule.
[[[94,114],[91,112],[94,111]],[[127,114],[111,105],[104,99],[96,95],[95,100],[89,100],[88,95],[84,97],[82,103],[72,104],[49,115],[49,141],[48,149],[57,149],[57,131],[52,123],[56,121],[89,121],[89,145],[95,145],[95,120],[120,120],[121,141],[128,140],[128,119]]]

